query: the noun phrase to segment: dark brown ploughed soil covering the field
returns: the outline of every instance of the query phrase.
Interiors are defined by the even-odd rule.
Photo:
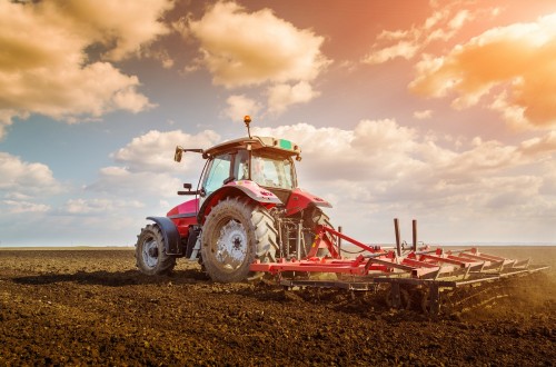
[[[374,295],[214,284],[196,265],[135,269],[131,250],[1,250],[0,366],[553,366],[553,272],[437,319]]]

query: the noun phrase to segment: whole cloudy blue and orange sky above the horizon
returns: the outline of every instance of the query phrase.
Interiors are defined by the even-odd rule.
[[[554,0],[0,0],[0,246],[132,246],[245,115],[361,241],[556,244]]]

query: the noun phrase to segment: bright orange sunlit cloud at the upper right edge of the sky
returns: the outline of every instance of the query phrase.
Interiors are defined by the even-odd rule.
[[[484,32],[448,54],[424,58],[410,89],[421,96],[456,95],[455,108],[485,101],[513,126],[556,127],[556,14]]]

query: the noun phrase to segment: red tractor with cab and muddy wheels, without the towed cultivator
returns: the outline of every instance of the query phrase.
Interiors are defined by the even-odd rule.
[[[136,259],[147,275],[166,274],[176,259],[198,259],[212,280],[232,282],[255,275],[254,262],[301,260],[327,254],[311,249],[321,226],[331,228],[321,207],[326,200],[298,187],[294,160],[301,149],[294,142],[250,135],[209,149],[176,148],[207,160],[197,189],[185,184],[178,195],[195,199],[178,205],[138,236]],[[329,236],[329,241],[336,237]]]

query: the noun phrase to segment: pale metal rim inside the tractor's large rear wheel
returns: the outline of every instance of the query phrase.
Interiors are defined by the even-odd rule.
[[[228,269],[237,269],[247,256],[247,232],[244,225],[236,220],[228,221],[220,229],[216,242],[216,259]]]

